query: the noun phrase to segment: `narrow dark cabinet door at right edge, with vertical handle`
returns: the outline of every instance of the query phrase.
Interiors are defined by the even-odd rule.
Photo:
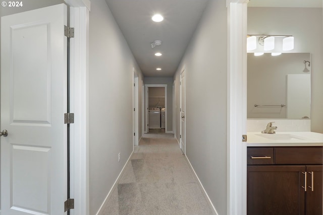
[[[323,166],[306,166],[306,215],[322,215]]]

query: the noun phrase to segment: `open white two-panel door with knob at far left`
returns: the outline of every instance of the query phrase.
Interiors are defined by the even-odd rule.
[[[66,214],[67,7],[2,17],[2,214]]]

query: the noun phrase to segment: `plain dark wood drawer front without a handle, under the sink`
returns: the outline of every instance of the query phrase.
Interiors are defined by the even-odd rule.
[[[276,164],[322,164],[322,147],[275,147]]]

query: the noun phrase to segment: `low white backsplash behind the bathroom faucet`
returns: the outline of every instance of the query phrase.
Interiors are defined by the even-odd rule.
[[[311,131],[310,119],[247,119],[247,132],[262,131],[268,122],[275,122],[279,131]]]

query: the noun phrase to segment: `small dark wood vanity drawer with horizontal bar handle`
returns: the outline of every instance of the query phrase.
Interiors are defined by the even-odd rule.
[[[270,165],[274,164],[273,147],[247,148],[247,165]]]

